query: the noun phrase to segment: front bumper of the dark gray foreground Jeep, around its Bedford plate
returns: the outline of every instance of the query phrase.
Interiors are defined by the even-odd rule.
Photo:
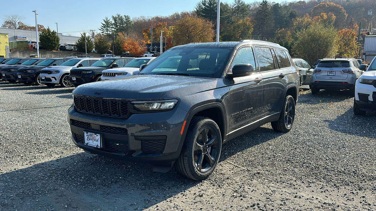
[[[112,118],[68,110],[73,143],[93,154],[136,163],[168,164],[182,149],[182,125],[187,112],[136,113],[129,118]],[[178,117],[178,118],[177,118]],[[102,135],[102,148],[84,144],[83,132]]]

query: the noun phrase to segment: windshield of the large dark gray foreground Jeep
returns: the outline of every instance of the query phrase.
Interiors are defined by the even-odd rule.
[[[140,74],[220,78],[233,48],[180,48],[165,51]]]

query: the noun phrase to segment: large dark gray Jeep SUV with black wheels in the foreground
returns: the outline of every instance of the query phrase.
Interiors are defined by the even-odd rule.
[[[299,75],[265,41],[180,45],[134,76],[83,84],[68,110],[73,142],[92,154],[203,180],[224,142],[271,122],[291,130]]]

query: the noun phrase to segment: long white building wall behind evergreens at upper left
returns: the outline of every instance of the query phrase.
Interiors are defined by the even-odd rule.
[[[36,33],[32,30],[23,30],[23,29],[9,29],[0,27],[0,33],[8,34],[9,42],[14,41],[24,41],[25,39],[15,39],[15,36],[26,37],[27,41],[36,41]],[[38,31],[38,33],[40,33]],[[65,36],[62,33],[58,33],[61,44],[74,45],[79,37],[75,36]]]

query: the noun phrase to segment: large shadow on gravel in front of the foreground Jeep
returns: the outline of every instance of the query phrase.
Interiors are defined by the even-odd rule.
[[[152,172],[146,164],[79,153],[0,171],[0,210],[143,210],[172,196],[183,197],[180,194],[199,183],[174,169]]]

